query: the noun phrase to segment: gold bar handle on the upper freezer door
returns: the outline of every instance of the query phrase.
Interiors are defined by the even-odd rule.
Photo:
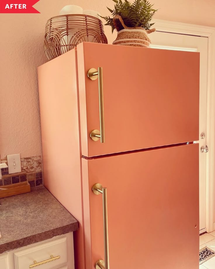
[[[100,131],[93,130],[90,133],[91,139],[98,141],[100,138],[101,143],[105,143],[105,120],[104,120],[104,97],[103,97],[103,70],[102,67],[98,67],[98,70],[91,68],[87,76],[91,80],[98,78],[98,97],[99,97],[99,118],[100,118]]]

